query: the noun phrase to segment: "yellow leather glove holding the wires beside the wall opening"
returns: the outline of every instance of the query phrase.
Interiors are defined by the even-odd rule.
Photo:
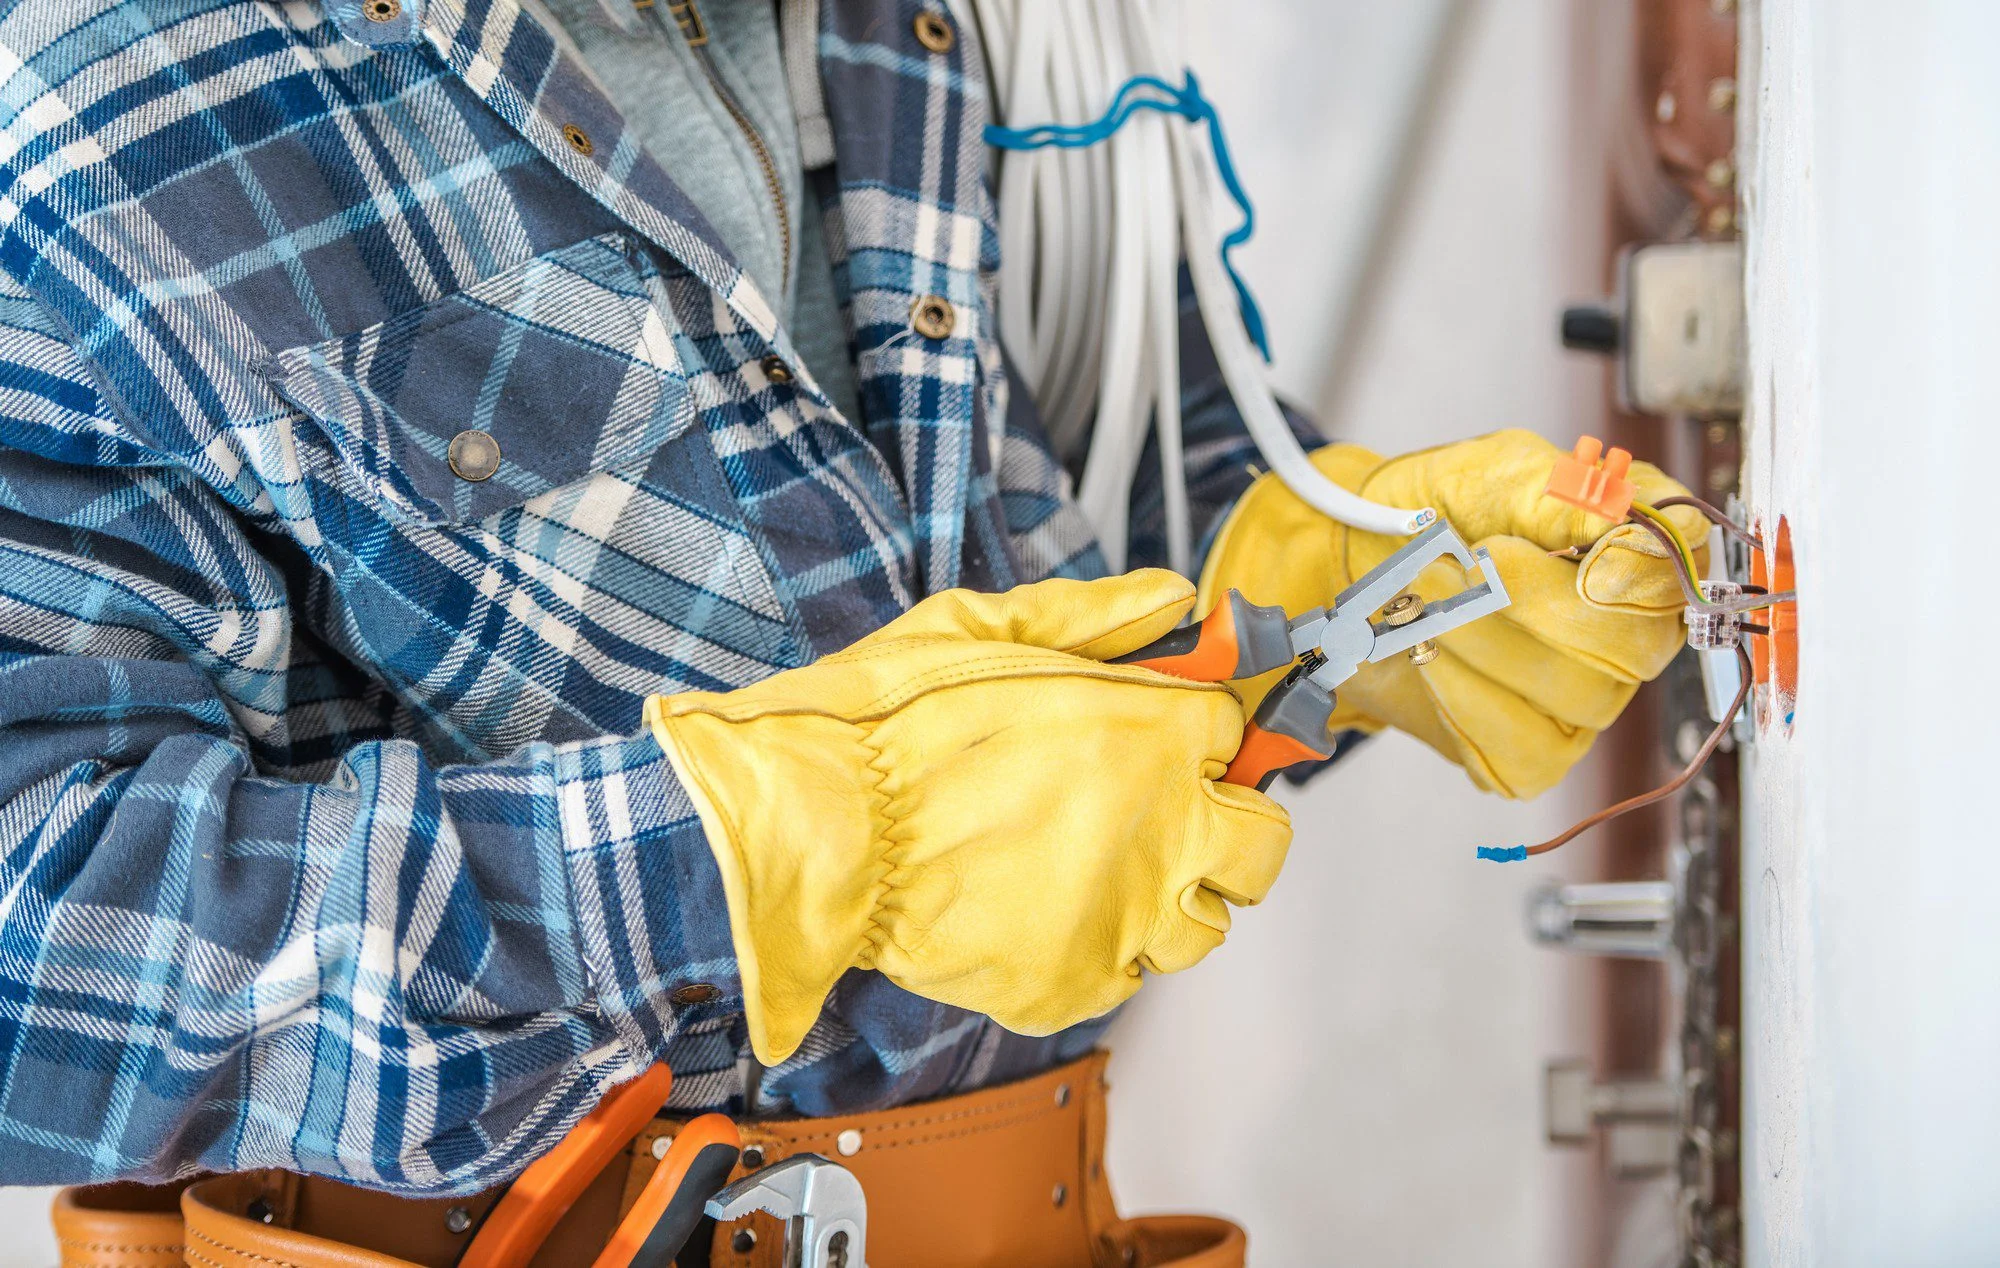
[[[1522,430],[1388,460],[1352,444],[1312,454],[1334,484],[1364,498],[1434,506],[1468,544],[1492,552],[1514,598],[1444,634],[1442,654],[1422,668],[1404,656],[1364,664],[1338,692],[1334,730],[1394,726],[1464,766],[1480,788],[1528,798],[1554,786],[1638,684],[1666,668],[1684,640],[1672,560],[1644,528],[1544,496],[1556,456],[1554,444]],[[1630,478],[1640,502],[1688,492],[1646,462],[1634,462]],[[1700,550],[1708,522],[1678,506],[1664,514]],[[1336,524],[1264,476],[1208,554],[1202,610],[1232,586],[1292,614],[1332,604],[1402,542]],[[1436,600],[1460,586],[1458,564],[1440,560],[1416,590]],[[1246,684],[1252,708],[1274,680]]]

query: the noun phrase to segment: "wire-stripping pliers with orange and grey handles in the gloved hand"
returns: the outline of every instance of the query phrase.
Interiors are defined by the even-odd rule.
[[[1430,604],[1408,594],[1416,574],[1444,556],[1466,570],[1466,588]],[[1472,580],[1474,570],[1478,580]],[[1358,668],[1398,652],[1428,664],[1438,654],[1432,642],[1438,634],[1510,602],[1486,548],[1466,546],[1438,520],[1342,590],[1332,608],[1286,618],[1284,608],[1264,608],[1230,590],[1202,624],[1174,630],[1120,656],[1118,664],[1196,682],[1232,682],[1296,662],[1264,696],[1222,776],[1228,784],[1264,790],[1286,766],[1332,756],[1326,724],[1334,714],[1334,690]],[[1370,620],[1378,614],[1380,620]]]

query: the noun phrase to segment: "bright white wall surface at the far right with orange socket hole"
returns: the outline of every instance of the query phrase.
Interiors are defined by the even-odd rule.
[[[1760,10],[1746,448],[1802,600],[1744,866],[1750,1258],[1994,1264],[2000,8]]]

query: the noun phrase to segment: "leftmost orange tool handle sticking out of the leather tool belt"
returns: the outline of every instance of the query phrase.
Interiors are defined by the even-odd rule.
[[[506,1190],[458,1268],[526,1268],[598,1172],[652,1122],[672,1088],[674,1074],[654,1066],[606,1092],[598,1108]]]

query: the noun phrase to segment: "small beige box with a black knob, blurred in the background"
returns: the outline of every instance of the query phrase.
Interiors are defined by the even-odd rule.
[[[1654,242],[1620,256],[1618,298],[1562,314],[1562,342],[1618,358],[1634,414],[1736,418],[1744,406],[1740,242]]]

